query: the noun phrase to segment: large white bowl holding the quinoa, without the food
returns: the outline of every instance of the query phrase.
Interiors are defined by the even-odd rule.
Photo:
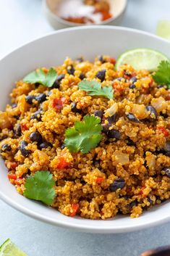
[[[64,58],[85,56],[93,59],[99,54],[118,57],[128,49],[148,47],[162,51],[170,58],[170,44],[157,36],[139,30],[109,26],[85,26],[59,30],[12,51],[0,61],[0,109],[3,110],[14,87],[36,67],[60,65]],[[38,220],[56,226],[93,233],[122,233],[140,230],[170,220],[170,202],[153,207],[140,218],[119,215],[109,220],[70,218],[57,210],[22,197],[9,183],[4,161],[0,160],[0,197],[12,207]]]

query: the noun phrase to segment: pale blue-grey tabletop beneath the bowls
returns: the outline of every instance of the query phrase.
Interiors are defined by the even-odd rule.
[[[169,0],[129,0],[122,25],[155,33],[161,19],[170,20]],[[0,0],[0,57],[52,30],[41,0]],[[170,244],[170,223],[129,234],[82,234],[33,220],[0,201],[0,244],[7,238],[29,256],[137,256]]]

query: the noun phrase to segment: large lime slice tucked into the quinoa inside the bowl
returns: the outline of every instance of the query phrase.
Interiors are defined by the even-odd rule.
[[[130,51],[125,51],[116,62],[116,69],[120,65],[129,64],[132,65],[136,70],[148,70],[156,71],[159,63],[162,60],[169,59],[161,54],[161,52],[154,51],[152,49],[133,49]]]

